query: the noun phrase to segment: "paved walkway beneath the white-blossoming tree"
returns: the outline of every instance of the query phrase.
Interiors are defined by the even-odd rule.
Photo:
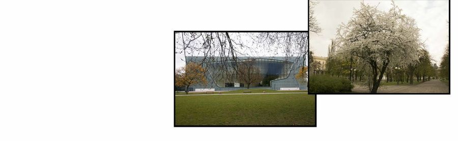
[[[379,87],[377,93],[448,93],[448,86],[440,80],[426,81],[414,86],[390,85]],[[353,92],[368,93],[369,90],[356,85]]]

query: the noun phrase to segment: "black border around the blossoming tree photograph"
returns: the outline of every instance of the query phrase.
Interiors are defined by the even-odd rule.
[[[347,0],[347,1],[351,1],[351,0]],[[417,1],[420,1],[420,0],[417,0]],[[308,0],[307,13],[308,13],[307,15],[310,14],[310,0]],[[310,23],[310,16],[307,17],[307,18],[308,18],[307,19],[308,23]],[[451,48],[450,48],[450,36],[451,36],[450,35],[450,25],[451,25],[450,24],[450,0],[448,1],[448,22],[449,22],[448,23],[448,48],[449,48],[449,52],[448,53],[450,55],[451,54],[450,53],[451,52]],[[309,26],[307,26],[307,30],[310,31],[310,27]],[[308,38],[310,38],[310,34],[311,33],[309,32]],[[309,51],[307,56],[310,56],[310,42],[308,42],[308,46],[307,47],[308,47],[307,50]],[[307,62],[308,65],[310,65],[310,57],[307,58],[307,61],[308,61]],[[451,63],[449,61],[448,65],[450,66],[450,64]],[[307,73],[310,74],[310,70],[309,69],[307,69],[307,70],[308,70]],[[450,67],[448,68],[448,71],[450,72]],[[448,80],[448,93],[347,93],[347,92],[344,92],[344,93],[310,93],[310,92],[308,92],[308,94],[314,94],[314,95],[315,94],[317,94],[317,95],[331,95],[331,94],[333,94],[333,95],[361,95],[361,94],[375,94],[375,95],[386,95],[386,94],[395,94],[395,95],[428,95],[428,94],[432,94],[432,95],[450,95],[450,86],[451,86],[450,85],[451,84],[450,73],[448,74],[448,78],[449,78],[449,80]],[[307,89],[309,89],[309,87],[308,87],[308,86],[310,86],[309,84],[310,84],[310,81],[307,81]]]

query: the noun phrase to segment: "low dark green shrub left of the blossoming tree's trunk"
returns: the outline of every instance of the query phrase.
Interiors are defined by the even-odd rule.
[[[345,78],[331,77],[328,75],[309,76],[310,93],[340,93],[351,92],[353,85]]]

